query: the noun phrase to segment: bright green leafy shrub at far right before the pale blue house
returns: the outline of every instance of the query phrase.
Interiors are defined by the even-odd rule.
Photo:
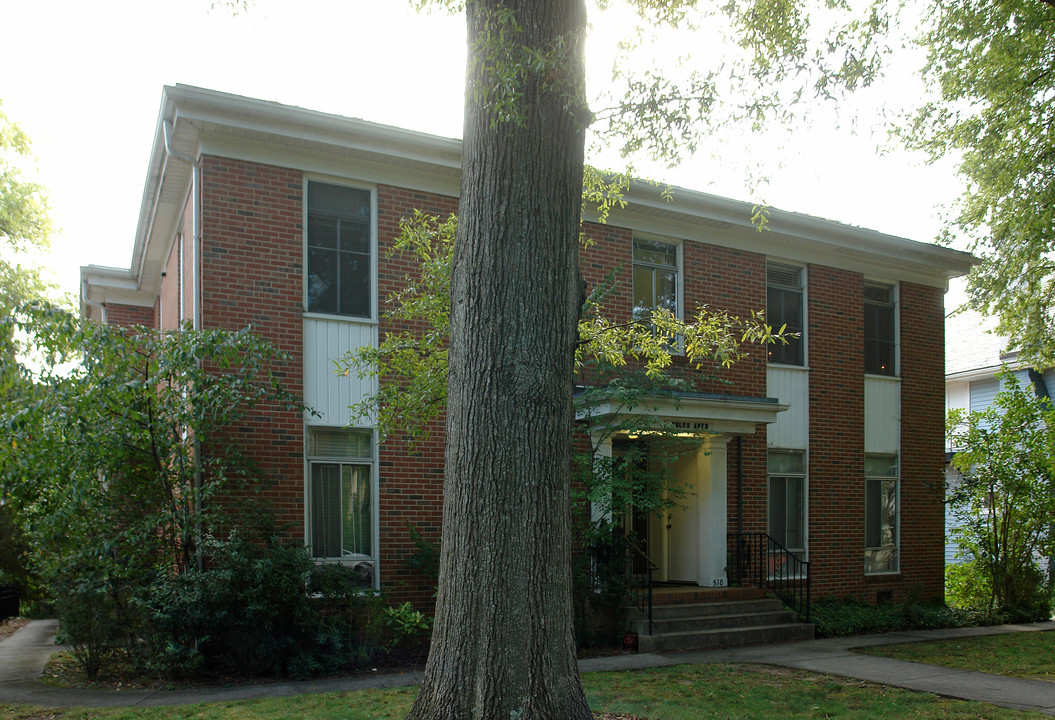
[[[1014,374],[998,377],[1003,390],[987,410],[948,416],[961,473],[947,495],[952,535],[989,586],[977,609],[1047,618],[1051,587],[1036,564],[1055,553],[1055,409]]]

